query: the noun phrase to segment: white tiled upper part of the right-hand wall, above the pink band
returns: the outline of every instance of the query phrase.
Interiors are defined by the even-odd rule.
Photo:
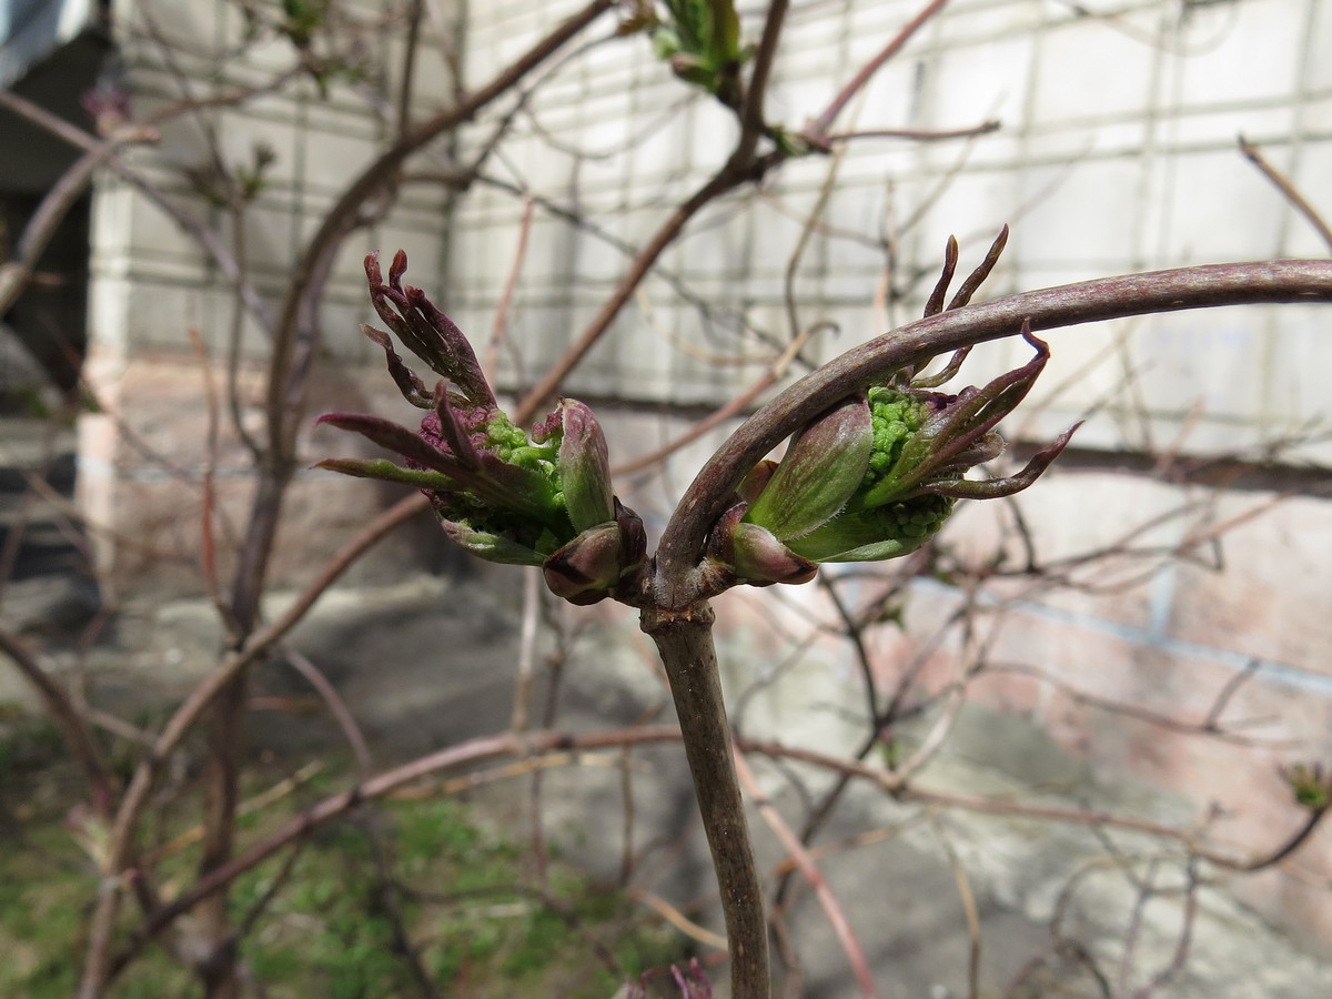
[[[799,127],[922,5],[797,4],[770,117]],[[473,79],[574,8],[473,4]],[[753,16],[746,28],[754,37]],[[916,316],[947,236],[962,238],[966,266],[1002,222],[1014,237],[988,294],[1185,264],[1325,256],[1313,228],[1240,156],[1236,136],[1257,143],[1332,214],[1328,52],[1327,0],[950,4],[838,124],[955,129],[998,119],[1002,129],[970,141],[862,140],[848,149],[823,216],[827,232],[810,244],[797,281],[802,321],[840,326],[814,353],[829,357]],[[535,93],[492,173],[642,245],[670,205],[722,163],[734,133],[723,112],[651,59],[646,39],[606,41]],[[472,139],[485,135],[478,128]],[[737,333],[738,316],[789,336],[783,272],[831,168],[826,159],[791,163],[761,196],[705,210],[667,254],[666,270],[709,314],[654,278],[642,300],[650,309],[617,322],[575,377],[578,390],[717,402],[753,380],[761,366],[718,369],[691,354],[761,354],[761,342]],[[507,193],[478,190],[462,206],[452,301],[465,328],[489,329],[519,217]],[[890,241],[906,301],[884,318],[872,302]],[[625,268],[623,253],[537,209],[515,326],[531,368],[558,354]],[[1083,446],[1159,446],[1185,424],[1185,446],[1195,450],[1288,433],[1329,414],[1316,374],[1332,369],[1324,324],[1315,308],[1245,309],[1056,334],[1047,386],[1086,377],[1032,433],[1067,425],[1091,400],[1110,412],[1084,428]],[[988,370],[1022,349],[994,353]],[[1135,393],[1123,392],[1126,368],[1136,372]],[[1332,458],[1325,444],[1300,453]]]

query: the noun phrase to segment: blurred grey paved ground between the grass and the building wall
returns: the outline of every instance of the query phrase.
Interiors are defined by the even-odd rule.
[[[274,613],[280,603],[274,602]],[[392,586],[342,589],[321,602],[293,637],[293,645],[337,686],[364,727],[376,763],[386,766],[493,734],[509,723],[517,657],[515,603],[510,581],[490,573],[468,585],[418,577]],[[208,603],[200,599],[159,602],[140,607],[137,614],[124,614],[113,641],[95,655],[103,697],[144,717],[157,697],[178,694],[212,661],[218,641]],[[558,727],[606,729],[654,715],[658,723],[669,721],[665,690],[635,638],[633,619],[621,615],[579,634],[563,670]],[[546,662],[538,663],[543,675]],[[801,679],[797,675],[791,682]],[[280,763],[288,770],[312,753],[346,759],[318,701],[289,667],[265,666],[256,693],[249,730],[256,759],[266,761],[269,767],[273,761],[289,761]],[[543,697],[542,687],[538,706]],[[836,743],[838,734],[830,731],[829,745]],[[635,750],[630,763],[633,896],[659,898],[719,932],[719,915],[706,903],[711,870],[679,747]],[[757,763],[770,794],[794,821],[798,801],[790,785],[777,770]],[[623,773],[618,754],[587,754],[541,778],[545,848],[569,864],[567,870],[581,871],[590,884],[621,883]],[[817,775],[802,777],[817,782]],[[1092,779],[1076,759],[1030,723],[980,709],[964,713],[950,750],[923,779],[936,789],[1043,803],[1147,809],[1155,815],[1180,807],[1148,789]],[[326,781],[321,787],[336,782]],[[525,774],[488,781],[450,798],[469,809],[469,822],[477,829],[501,831],[496,842],[523,858],[514,867],[514,878],[531,876],[533,794],[531,775]],[[298,801],[309,799],[309,794],[298,795]],[[751,815],[750,822],[757,832],[761,871],[771,871],[782,859],[779,851],[761,819]],[[1106,862],[1107,844],[1123,860],[1146,850],[1146,840],[1011,818],[934,815],[863,786],[847,797],[819,842],[848,843],[855,836],[859,842],[854,848],[834,848],[819,858],[819,864],[883,983],[884,996],[966,995],[967,915],[948,852],[940,843],[947,843],[964,866],[975,900],[982,927],[982,995],[1002,994],[1030,960],[1042,955],[1052,970],[1028,995],[1098,995],[1095,980],[1078,959],[1078,946],[1118,974],[1123,940],[1134,919],[1135,892],[1122,870],[1124,864]],[[450,891],[454,875],[448,870],[421,874],[432,882],[430,891]],[[1074,888],[1066,892],[1070,883]],[[1048,928],[1056,914],[1068,938],[1063,942]],[[657,916],[650,922],[658,928],[665,926]],[[1138,914],[1136,924],[1132,934],[1138,971],[1126,979],[1131,984],[1169,963],[1179,927],[1177,900],[1154,902]],[[810,892],[802,892],[789,928],[806,970],[801,994],[811,999],[854,995],[846,959]],[[677,952],[715,954],[682,935],[674,939]],[[1188,968],[1158,995],[1308,999],[1332,992],[1332,964],[1301,952],[1223,890],[1201,894],[1191,944]],[[366,954],[370,951],[373,943]],[[718,994],[725,995],[725,990]]]

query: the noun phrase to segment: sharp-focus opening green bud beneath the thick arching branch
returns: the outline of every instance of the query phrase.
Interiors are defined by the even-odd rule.
[[[1016,476],[966,478],[968,469],[1002,453],[994,428],[1050,357],[1046,344],[1024,336],[1035,358],[982,389],[947,396],[927,390],[930,382],[879,385],[806,426],[781,464],[763,462],[741,484],[738,502],[709,542],[714,569],[759,586],[806,582],[823,562],[915,551],[959,498],[1011,496],[1030,486],[1072,430]]]

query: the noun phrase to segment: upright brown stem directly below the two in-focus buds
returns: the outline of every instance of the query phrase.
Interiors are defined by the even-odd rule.
[[[647,607],[642,627],[657,643],[670,678],[698,810],[713,851],[726,918],[733,999],[767,999],[767,922],[745,803],[733,759],[731,729],[713,646],[706,601],[679,611]]]

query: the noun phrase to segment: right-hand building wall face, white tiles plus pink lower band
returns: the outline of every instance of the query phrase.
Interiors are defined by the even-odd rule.
[[[573,7],[474,5],[469,64],[497,64]],[[777,61],[773,119],[799,128],[920,7],[797,4]],[[745,9],[757,16],[761,8]],[[746,25],[753,36],[754,21]],[[859,140],[839,161],[790,163],[761,192],[705,209],[574,376],[573,390],[715,406],[758,378],[790,340],[789,261],[826,185],[791,284],[802,326],[838,329],[815,336],[811,358],[918,316],[946,237],[962,240],[966,269],[1003,222],[1014,234],[987,294],[1176,265],[1327,256],[1332,248],[1241,156],[1237,137],[1332,216],[1329,52],[1327,0],[951,3],[839,127],[943,131],[998,120],[999,131],[928,144]],[[485,136],[481,128],[472,140]],[[515,382],[530,381],[578,336],[625,273],[625,248],[649,241],[722,164],[734,136],[727,115],[691,97],[643,39],[590,48],[533,96],[493,166],[535,198],[513,302],[511,338],[523,358],[521,370],[507,369]],[[511,193],[485,188],[460,205],[449,296],[468,329],[489,329],[522,212]],[[1277,766],[1329,753],[1332,503],[1325,472],[1296,470],[1332,461],[1325,433],[1307,432],[1332,416],[1328,322],[1325,308],[1236,309],[1052,334],[1055,360],[1036,393],[1048,405],[1028,405],[1012,429],[1043,440],[1094,410],[1076,460],[1020,501],[1040,563],[1070,571],[1078,589],[991,579],[978,595],[990,665],[967,681],[971,698],[1035,719],[1100,773],[1172,789],[1199,815],[1219,807],[1217,834],[1253,850],[1300,822]],[[976,353],[971,381],[1026,357],[1026,348]],[[745,358],[750,364],[737,362]],[[631,421],[613,436],[613,457],[630,461],[682,425]],[[1303,440],[1263,445],[1273,438]],[[663,484],[643,488],[638,505],[650,521],[661,522],[703,450],[690,449]],[[1200,460],[1220,450],[1257,466],[1235,480],[1236,492],[1219,489],[1231,481],[1224,474],[1181,485],[1160,473],[1169,464],[1158,464],[1163,453]],[[1003,569],[1022,565],[1006,506],[958,519],[939,545],[976,569],[999,551]],[[1160,550],[1181,545],[1185,561],[1166,565]],[[1098,573],[1066,561],[1104,546],[1122,551]],[[835,626],[813,587],[782,597],[799,611],[774,610],[773,591],[718,602],[733,629],[738,686],[790,662],[806,634],[802,614]],[[975,661],[962,654],[956,630],[939,633],[962,599],[962,590],[938,582],[912,587],[907,633],[884,626],[871,642],[886,687],[918,655],[930,662],[923,689],[966,679]],[[746,603],[766,610],[751,619]],[[839,697],[855,699],[846,691],[859,685],[851,649],[818,641],[802,662],[797,693],[759,694],[785,705],[765,723],[787,738],[839,745],[844,715],[826,713],[823,723],[817,715]],[[1213,721],[1241,733],[1237,742],[1181,730],[1201,726],[1217,705],[1224,710]],[[1320,887],[1332,872],[1332,839],[1324,832],[1297,867],[1251,882],[1248,898],[1332,939]]]

